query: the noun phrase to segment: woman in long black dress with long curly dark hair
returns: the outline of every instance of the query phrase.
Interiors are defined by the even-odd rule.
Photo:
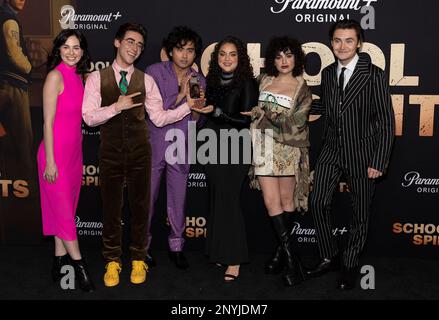
[[[217,139],[216,153],[209,154],[210,162],[204,166],[210,196],[207,253],[211,262],[227,265],[225,281],[237,279],[240,265],[248,262],[241,189],[251,163],[251,137],[250,119],[240,112],[257,103],[258,88],[247,49],[241,40],[229,36],[212,53],[204,108],[211,111],[206,128]]]

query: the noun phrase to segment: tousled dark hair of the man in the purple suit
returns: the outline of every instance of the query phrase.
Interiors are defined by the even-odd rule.
[[[176,26],[174,27],[168,36],[163,39],[162,47],[165,48],[166,54],[169,60],[172,60],[170,53],[173,48],[181,48],[185,46],[188,42],[192,42],[195,47],[195,56],[199,57],[201,55],[201,49],[203,43],[201,37],[186,26]]]

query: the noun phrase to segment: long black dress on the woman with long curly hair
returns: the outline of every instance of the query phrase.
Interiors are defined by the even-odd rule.
[[[251,163],[244,163],[243,151],[251,153],[251,140],[239,139],[239,160],[231,163],[236,156],[231,143],[228,145],[227,163],[221,163],[224,149],[221,145],[226,139],[221,139],[221,129],[237,129],[241,135],[248,135],[251,118],[240,112],[250,111],[258,103],[258,88],[254,79],[240,84],[207,87],[207,105],[215,107],[208,116],[206,128],[215,131],[217,136],[217,163],[204,165],[209,185],[209,218],[207,223],[207,254],[211,262],[226,265],[237,265],[248,262],[247,235],[244,217],[241,210],[241,189],[247,177]],[[241,130],[244,130],[242,132]],[[230,132],[230,131],[229,131]],[[235,159],[236,160],[236,159]],[[236,163],[237,162],[237,163]]]

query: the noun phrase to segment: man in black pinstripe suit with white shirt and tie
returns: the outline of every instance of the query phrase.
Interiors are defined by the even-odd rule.
[[[375,179],[387,169],[395,120],[384,72],[366,54],[358,53],[364,39],[360,24],[354,20],[336,22],[330,39],[337,61],[322,71],[321,99],[311,109],[313,114],[324,114],[326,122],[310,197],[321,261],[308,275],[316,277],[341,267],[337,286],[346,290],[355,286]],[[330,208],[342,175],[347,179],[354,210],[348,244],[339,253]]]

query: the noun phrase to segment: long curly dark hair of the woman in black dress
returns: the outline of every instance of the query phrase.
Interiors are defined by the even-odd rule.
[[[250,64],[250,58],[247,54],[247,47],[238,38],[233,36],[227,36],[215,45],[215,49],[210,56],[209,73],[206,78],[207,85],[209,86],[220,85],[222,71],[220,66],[218,65],[218,54],[220,48],[226,43],[234,44],[236,46],[236,49],[238,50],[238,66],[233,73],[234,76],[232,85],[240,84],[243,81],[254,78],[253,68]]]

